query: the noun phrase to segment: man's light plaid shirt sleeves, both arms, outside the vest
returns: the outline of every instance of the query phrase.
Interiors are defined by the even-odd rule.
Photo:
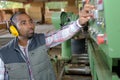
[[[54,47],[65,40],[70,39],[74,34],[76,34],[82,26],[79,24],[79,21],[70,23],[69,25],[64,26],[61,30],[58,30],[52,34],[46,34],[46,46],[48,48]],[[0,58],[0,80],[4,80],[5,67],[4,62]]]

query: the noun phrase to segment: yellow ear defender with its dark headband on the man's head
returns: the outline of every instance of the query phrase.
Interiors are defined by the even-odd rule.
[[[13,16],[10,18],[9,32],[10,32],[13,36],[17,37],[17,36],[19,36],[19,32],[18,32],[17,27],[15,26],[14,21],[13,21],[14,16],[15,16],[15,15],[13,15]]]

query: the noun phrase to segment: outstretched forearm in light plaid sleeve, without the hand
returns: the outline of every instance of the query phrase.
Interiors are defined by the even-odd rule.
[[[77,21],[64,26],[62,30],[59,30],[51,35],[46,36],[46,45],[47,47],[53,47],[56,46],[68,39],[70,39],[73,35],[75,35],[79,30],[81,29],[81,26]]]

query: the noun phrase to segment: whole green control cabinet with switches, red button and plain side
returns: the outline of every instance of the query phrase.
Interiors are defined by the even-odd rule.
[[[95,42],[101,46],[107,55],[120,57],[120,11],[117,10],[120,1],[91,0],[96,9],[91,12],[94,18],[90,20],[89,31]]]

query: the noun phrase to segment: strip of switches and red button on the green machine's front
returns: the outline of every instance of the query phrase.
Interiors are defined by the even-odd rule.
[[[90,34],[97,44],[106,44],[106,28],[102,0],[93,0],[92,4],[96,7],[91,13],[94,15],[90,20]]]

